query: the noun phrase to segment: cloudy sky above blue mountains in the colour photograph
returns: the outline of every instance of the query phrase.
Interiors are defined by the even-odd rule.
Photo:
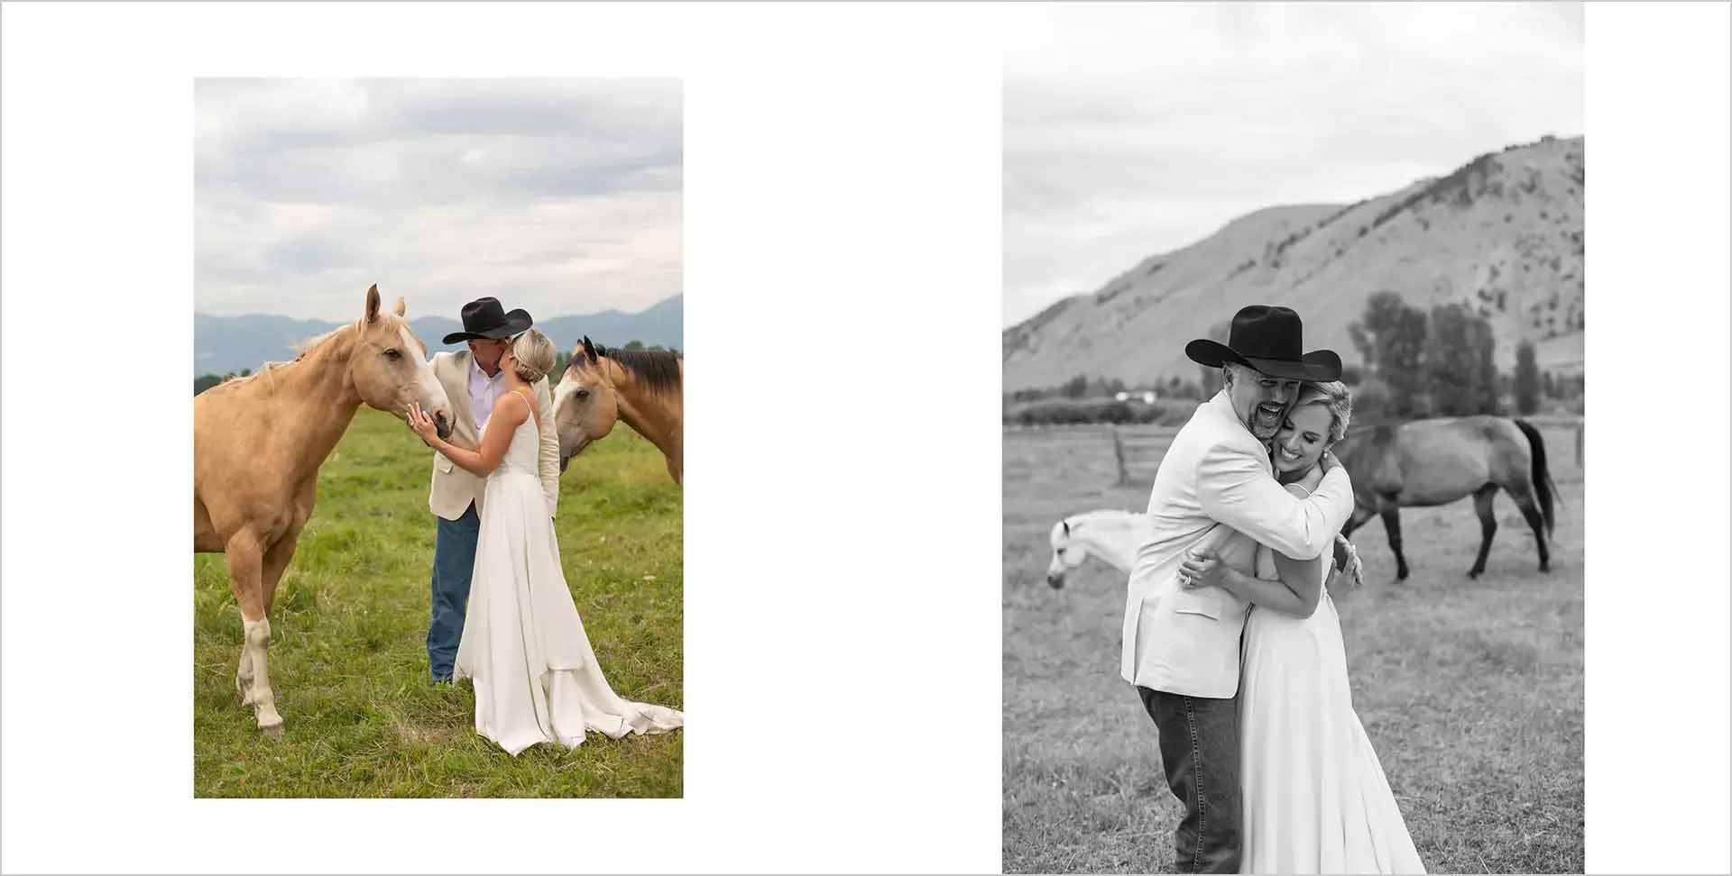
[[[677,80],[197,80],[194,308],[537,319],[681,293]]]

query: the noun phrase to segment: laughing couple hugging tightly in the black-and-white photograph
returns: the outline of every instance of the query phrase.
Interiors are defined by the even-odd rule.
[[[1121,673],[1185,805],[1179,873],[1424,873],[1353,712],[1330,597],[1356,576],[1356,557],[1330,563],[1353,485],[1328,447],[1353,403],[1341,357],[1302,353],[1301,329],[1254,305],[1226,345],[1186,345],[1225,386],[1155,474]]]

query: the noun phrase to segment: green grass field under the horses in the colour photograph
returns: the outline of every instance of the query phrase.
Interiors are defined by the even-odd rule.
[[[475,734],[469,682],[428,675],[431,452],[362,409],[319,474],[319,506],[270,613],[286,722],[258,732],[234,689],[241,611],[222,554],[194,556],[197,796],[681,796],[684,732],[533,746]],[[613,689],[681,708],[681,490],[629,428],[572,462],[556,521],[566,583]]]

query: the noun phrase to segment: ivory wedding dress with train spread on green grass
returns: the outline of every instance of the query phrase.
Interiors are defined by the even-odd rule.
[[[516,755],[535,743],[575,748],[584,731],[618,739],[679,729],[681,712],[620,699],[596,663],[559,570],[539,441],[532,414],[481,495],[456,667],[456,677],[475,680],[475,731]]]

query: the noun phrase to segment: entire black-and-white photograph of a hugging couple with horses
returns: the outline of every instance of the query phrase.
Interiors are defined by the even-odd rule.
[[[1581,871],[1581,16],[1027,16],[1006,873]]]

